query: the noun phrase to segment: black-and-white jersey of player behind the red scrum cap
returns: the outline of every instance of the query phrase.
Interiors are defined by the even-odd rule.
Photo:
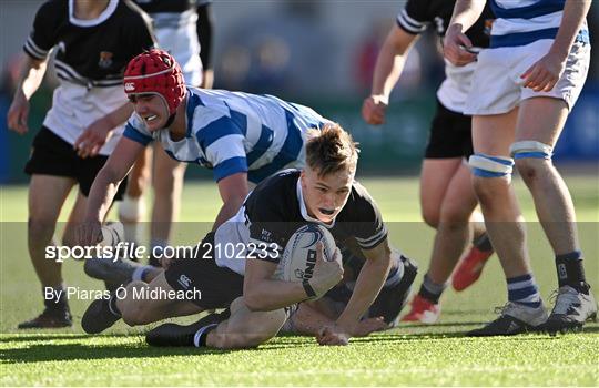
[[[152,17],[161,49],[171,53],[181,67],[185,83],[202,83],[202,61],[197,39],[197,7],[209,0],[134,0]]]

